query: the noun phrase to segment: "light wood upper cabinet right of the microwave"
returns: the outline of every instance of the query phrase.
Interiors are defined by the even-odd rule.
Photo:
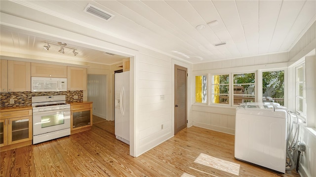
[[[67,90],[87,89],[87,69],[79,67],[67,67]]]

